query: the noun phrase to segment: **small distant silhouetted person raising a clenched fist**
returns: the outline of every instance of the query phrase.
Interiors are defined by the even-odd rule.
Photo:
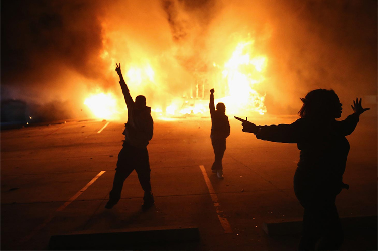
[[[230,123],[225,115],[226,106],[223,103],[214,105],[214,89],[210,90],[210,115],[211,115],[211,144],[213,145],[215,161],[211,167],[219,179],[223,179],[222,159],[226,151],[226,138],[230,135]]]

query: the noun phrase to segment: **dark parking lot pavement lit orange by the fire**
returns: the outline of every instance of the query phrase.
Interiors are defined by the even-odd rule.
[[[259,119],[255,120],[258,124],[290,123],[296,117]],[[283,230],[289,235],[268,236],[262,226],[264,222],[302,217],[303,209],[292,189],[299,150],[294,144],[259,141],[252,134],[242,133],[240,122],[230,120],[224,180],[211,173],[209,118],[155,121],[148,150],[156,205],[147,212],[140,208],[143,191],[135,172],[125,181],[120,202],[111,210],[104,209],[121,149],[123,123],[110,121],[101,133],[98,131],[108,121],[3,130],[1,249],[43,250],[52,235],[84,230],[172,226],[197,226],[201,239],[190,245],[166,243],[151,249],[296,249],[299,235],[290,235],[292,229]],[[376,215],[376,117],[362,116],[347,138],[351,150],[344,182],[350,189],[337,198],[339,214]],[[105,172],[83,189],[101,171]],[[205,176],[218,199],[217,207]],[[227,227],[218,215],[227,219],[230,233],[225,233]],[[345,229],[342,250],[376,249],[376,228]]]

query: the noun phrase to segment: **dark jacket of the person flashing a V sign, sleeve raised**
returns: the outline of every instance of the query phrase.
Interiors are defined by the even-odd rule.
[[[151,108],[144,106],[137,108],[130,91],[123,78],[119,81],[126,105],[128,107],[128,122],[124,124],[124,142],[137,148],[145,148],[152,139],[154,121],[151,117]]]

